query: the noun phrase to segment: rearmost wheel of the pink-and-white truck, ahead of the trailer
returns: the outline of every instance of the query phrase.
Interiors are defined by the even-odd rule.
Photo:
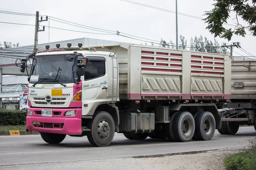
[[[210,140],[215,133],[215,119],[211,112],[201,112],[195,117],[195,140]]]

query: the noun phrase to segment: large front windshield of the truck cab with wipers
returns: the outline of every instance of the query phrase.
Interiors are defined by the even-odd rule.
[[[70,55],[75,57],[76,54]],[[29,82],[38,82],[38,84],[72,83],[74,82],[73,76],[76,81],[78,78],[76,74],[73,74],[77,68],[77,65],[74,65],[75,59],[70,62],[66,56],[67,54],[35,56]]]

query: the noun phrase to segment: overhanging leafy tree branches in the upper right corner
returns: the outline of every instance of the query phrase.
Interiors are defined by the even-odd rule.
[[[214,0],[214,8],[211,11],[205,11],[207,16],[204,21],[208,24],[206,27],[214,37],[231,40],[234,34],[245,37],[246,30],[256,36],[256,0]],[[230,18],[230,13],[236,14],[236,27],[224,28],[224,24]],[[239,19],[244,20],[239,23]]]

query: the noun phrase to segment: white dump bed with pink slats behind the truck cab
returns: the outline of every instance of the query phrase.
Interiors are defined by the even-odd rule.
[[[230,99],[227,55],[126,43],[93,47],[117,54],[120,99]]]

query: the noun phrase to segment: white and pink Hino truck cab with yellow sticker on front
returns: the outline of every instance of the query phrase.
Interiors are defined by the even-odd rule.
[[[89,128],[86,121],[82,126],[82,117],[92,118],[97,106],[119,101],[116,54],[49,50],[32,59],[26,130],[41,132],[47,142],[52,134],[58,134],[59,140],[86,135]]]

